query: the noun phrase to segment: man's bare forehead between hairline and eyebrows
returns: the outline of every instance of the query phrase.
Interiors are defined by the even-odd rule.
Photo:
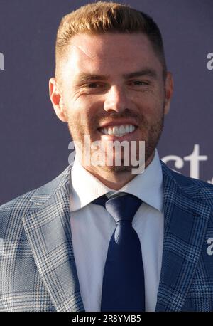
[[[73,36],[67,46],[66,65],[72,73],[79,70],[131,73],[131,70],[143,67],[162,69],[151,42],[143,33],[82,33]]]

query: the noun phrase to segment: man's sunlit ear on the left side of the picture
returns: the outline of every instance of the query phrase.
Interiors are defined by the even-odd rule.
[[[55,78],[50,78],[49,80],[49,95],[55,114],[62,122],[67,122],[67,113],[62,103],[62,95],[58,89]]]

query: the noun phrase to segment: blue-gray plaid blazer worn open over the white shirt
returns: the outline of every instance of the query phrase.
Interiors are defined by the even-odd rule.
[[[163,168],[156,311],[213,310],[213,186]],[[84,311],[72,249],[70,166],[0,206],[0,311]]]

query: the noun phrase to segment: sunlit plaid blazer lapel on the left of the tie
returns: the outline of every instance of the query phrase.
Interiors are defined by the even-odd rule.
[[[69,181],[70,167],[38,189],[31,200],[40,206],[23,217],[23,226],[56,310],[84,311],[72,248]]]

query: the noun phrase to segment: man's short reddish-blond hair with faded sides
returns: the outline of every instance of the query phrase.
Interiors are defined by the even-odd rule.
[[[166,76],[166,63],[163,39],[153,19],[142,11],[124,4],[99,1],[87,4],[65,15],[60,21],[55,43],[55,76],[60,75],[60,61],[66,56],[70,38],[79,33],[143,33],[163,66],[163,79]]]

